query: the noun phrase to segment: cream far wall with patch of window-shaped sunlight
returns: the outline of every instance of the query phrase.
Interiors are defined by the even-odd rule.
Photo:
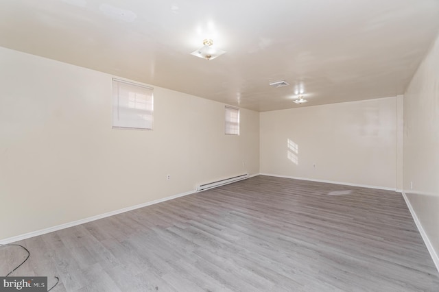
[[[260,123],[261,173],[396,188],[397,97],[261,112]]]

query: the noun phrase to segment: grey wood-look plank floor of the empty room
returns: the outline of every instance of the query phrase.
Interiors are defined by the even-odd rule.
[[[439,291],[401,194],[263,175],[18,243],[53,291]]]

